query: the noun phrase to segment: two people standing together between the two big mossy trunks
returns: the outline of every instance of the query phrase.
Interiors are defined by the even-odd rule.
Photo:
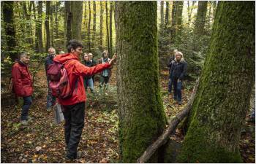
[[[173,54],[167,63],[169,67],[168,93],[171,95],[173,87],[173,99],[178,102],[178,105],[181,105],[181,88],[187,74],[187,62],[184,60],[182,52],[173,50]]]

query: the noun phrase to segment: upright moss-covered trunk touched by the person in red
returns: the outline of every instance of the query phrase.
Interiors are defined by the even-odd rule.
[[[159,90],[157,1],[116,1],[121,163],[135,163],[165,128]],[[150,162],[157,163],[157,153]]]

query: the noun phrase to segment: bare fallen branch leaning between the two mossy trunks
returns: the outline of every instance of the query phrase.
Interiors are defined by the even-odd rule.
[[[177,125],[181,120],[184,119],[184,117],[189,114],[189,110],[192,108],[192,104],[195,98],[195,93],[197,92],[197,87],[199,84],[199,78],[197,79],[197,82],[195,84],[195,87],[192,91],[192,94],[190,95],[189,102],[187,103],[187,106],[184,107],[184,109],[176,115],[172,120],[170,120],[169,127],[167,130],[165,130],[164,133],[162,133],[159,138],[157,138],[157,141],[154,141],[153,144],[151,144],[146,151],[143,153],[143,155],[137,160],[137,163],[146,163],[146,161],[156,152],[156,150],[161,147],[165,142],[167,141],[167,138],[170,136],[171,133],[173,133],[173,130],[176,129]]]

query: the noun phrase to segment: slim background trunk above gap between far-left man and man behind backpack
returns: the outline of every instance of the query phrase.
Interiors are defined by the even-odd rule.
[[[38,15],[36,24],[37,52],[44,52],[42,44],[42,1],[38,1]]]

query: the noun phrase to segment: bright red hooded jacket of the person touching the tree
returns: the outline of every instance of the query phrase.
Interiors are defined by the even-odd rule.
[[[59,104],[61,105],[73,105],[86,101],[86,91],[83,86],[83,77],[92,76],[94,74],[97,74],[99,71],[108,69],[110,67],[109,63],[97,64],[97,66],[92,67],[84,66],[82,63],[80,63],[78,56],[72,53],[56,55],[53,60],[59,63],[64,63],[67,61],[66,63],[64,63],[64,68],[67,70],[69,82],[74,88],[74,92],[71,98],[65,100],[59,98]],[[77,89],[75,89],[76,79],[78,79]]]

